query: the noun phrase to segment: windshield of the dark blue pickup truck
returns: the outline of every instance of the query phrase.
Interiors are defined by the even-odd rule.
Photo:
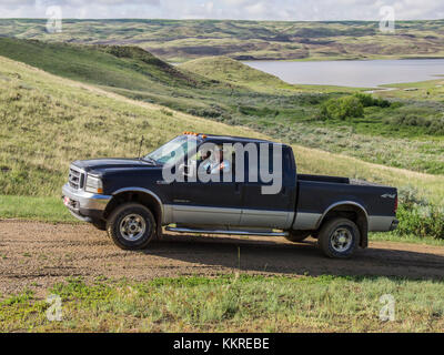
[[[202,139],[195,135],[179,135],[144,156],[143,160],[152,160],[158,164],[175,164],[189,152],[195,152],[201,141]]]

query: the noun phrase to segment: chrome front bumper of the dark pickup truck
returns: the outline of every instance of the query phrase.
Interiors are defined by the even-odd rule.
[[[83,222],[93,222],[102,220],[103,211],[112,196],[73,190],[69,184],[64,184],[62,187],[63,202],[65,197],[69,201],[64,205],[74,217]]]

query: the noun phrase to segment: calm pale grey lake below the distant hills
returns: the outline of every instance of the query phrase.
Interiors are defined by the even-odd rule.
[[[444,59],[369,61],[244,61],[291,84],[375,88],[382,84],[416,82],[444,75]]]

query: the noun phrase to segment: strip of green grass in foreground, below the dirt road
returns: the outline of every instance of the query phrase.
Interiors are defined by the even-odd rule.
[[[32,290],[0,302],[1,332],[440,332],[444,283],[389,277],[198,276],[151,282],[69,278],[48,290],[62,321]],[[395,300],[395,321],[379,317]]]

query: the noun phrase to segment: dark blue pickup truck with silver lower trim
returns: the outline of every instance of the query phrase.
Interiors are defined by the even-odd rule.
[[[296,173],[291,146],[184,132],[137,159],[75,161],[62,189],[78,219],[125,250],[162,227],[180,233],[317,239],[330,257],[396,229],[397,191],[347,178]]]

